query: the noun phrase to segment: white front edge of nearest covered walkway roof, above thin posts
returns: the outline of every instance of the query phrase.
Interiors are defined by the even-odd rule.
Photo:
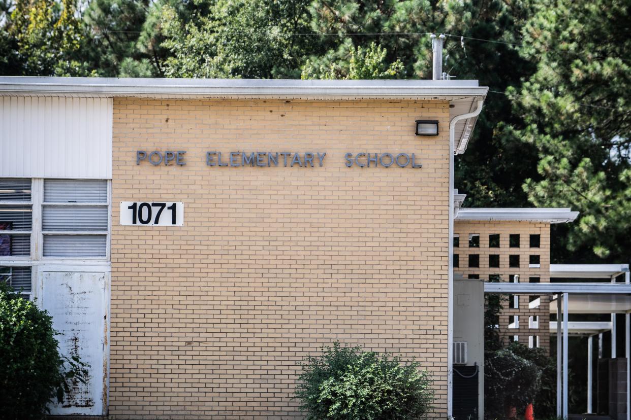
[[[625,283],[484,283],[485,293],[511,295],[553,295],[575,293],[579,295],[631,295],[631,284]]]

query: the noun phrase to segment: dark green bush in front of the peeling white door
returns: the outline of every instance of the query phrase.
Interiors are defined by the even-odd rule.
[[[3,419],[40,419],[67,382],[85,382],[86,365],[59,355],[52,317],[0,281],[0,407]],[[68,363],[68,371],[64,365]]]

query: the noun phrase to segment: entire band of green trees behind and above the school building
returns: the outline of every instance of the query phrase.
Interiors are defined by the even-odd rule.
[[[0,0],[0,74],[428,79],[490,87],[456,188],[466,205],[572,207],[563,261],[627,261],[628,2]]]

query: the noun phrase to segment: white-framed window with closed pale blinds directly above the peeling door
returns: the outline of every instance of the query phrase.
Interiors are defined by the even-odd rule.
[[[44,179],[43,256],[107,256],[107,194],[105,180]]]

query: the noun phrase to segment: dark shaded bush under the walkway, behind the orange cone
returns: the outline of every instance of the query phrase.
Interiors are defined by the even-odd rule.
[[[536,402],[541,386],[541,368],[524,358],[524,352],[519,353],[511,344],[509,348],[485,356],[484,408],[487,418],[505,418],[510,407],[524,412],[528,404]]]

